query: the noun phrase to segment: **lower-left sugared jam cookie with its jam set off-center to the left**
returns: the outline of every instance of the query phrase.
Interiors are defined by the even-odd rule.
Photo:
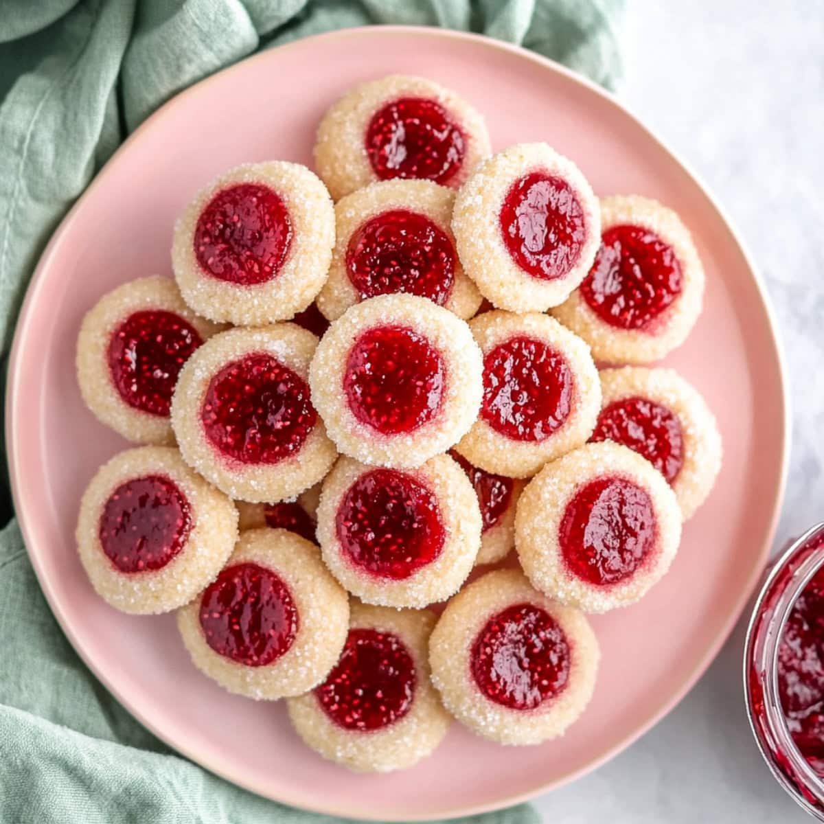
[[[346,640],[349,597],[309,541],[251,529],[218,578],[178,611],[177,626],[201,672],[237,695],[275,700],[328,675]]]

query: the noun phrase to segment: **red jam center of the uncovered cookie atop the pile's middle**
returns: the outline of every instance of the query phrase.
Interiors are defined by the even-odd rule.
[[[424,335],[406,326],[376,326],[349,350],[344,392],[362,424],[383,435],[405,434],[438,414],[446,373]]]

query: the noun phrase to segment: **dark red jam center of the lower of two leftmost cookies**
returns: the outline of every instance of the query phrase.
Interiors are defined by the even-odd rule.
[[[189,501],[170,478],[146,475],[119,485],[105,502],[101,547],[120,572],[162,569],[192,531]]]

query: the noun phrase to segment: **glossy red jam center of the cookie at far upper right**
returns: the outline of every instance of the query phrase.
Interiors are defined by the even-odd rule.
[[[581,294],[604,323],[637,330],[672,305],[683,280],[675,250],[658,235],[639,226],[614,226],[601,237]]]

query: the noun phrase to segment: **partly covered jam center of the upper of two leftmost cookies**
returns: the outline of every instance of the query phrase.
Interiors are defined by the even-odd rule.
[[[111,380],[133,409],[166,417],[180,368],[202,343],[194,326],[174,312],[133,312],[109,341]]]

